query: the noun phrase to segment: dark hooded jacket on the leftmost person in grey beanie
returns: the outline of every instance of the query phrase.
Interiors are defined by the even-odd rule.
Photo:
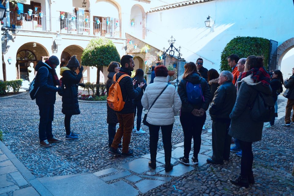
[[[52,68],[47,64],[43,63],[42,61],[39,61],[36,65],[36,71],[36,82],[40,86],[40,89],[36,94],[36,104],[55,104],[56,92],[58,88],[54,86],[53,83]]]

